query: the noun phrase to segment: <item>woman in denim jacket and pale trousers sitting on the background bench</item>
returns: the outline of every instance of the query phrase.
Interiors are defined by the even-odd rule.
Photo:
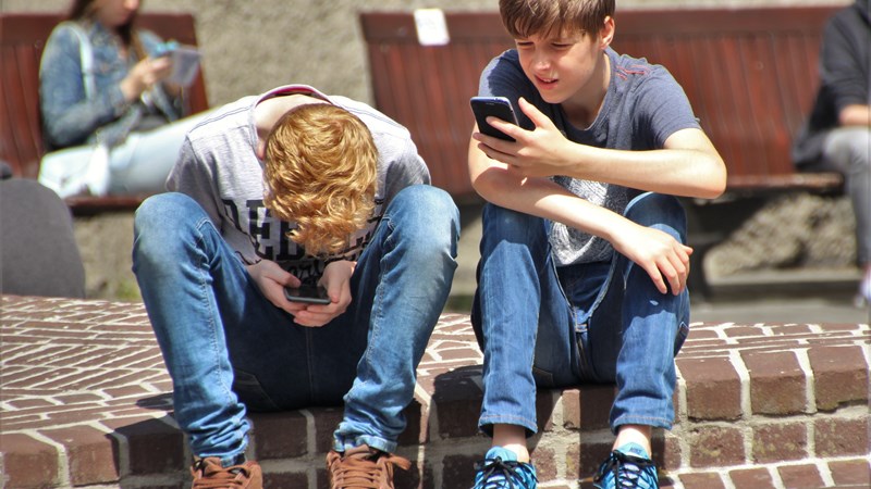
[[[39,181],[61,197],[164,189],[184,135],[169,46],[135,27],[138,2],[75,0],[49,36],[39,98],[49,153]]]

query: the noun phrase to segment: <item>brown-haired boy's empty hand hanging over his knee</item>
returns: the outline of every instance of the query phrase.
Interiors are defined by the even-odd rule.
[[[628,223],[612,241],[614,248],[643,268],[657,289],[677,296],[687,287],[692,248],[659,229]]]

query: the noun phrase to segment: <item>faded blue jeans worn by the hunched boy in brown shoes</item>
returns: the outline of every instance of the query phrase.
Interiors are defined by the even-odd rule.
[[[260,293],[197,202],[182,193],[146,200],[136,212],[133,269],[193,452],[224,462],[242,453],[246,406],[294,410],[343,399],[335,448],[394,451],[417,364],[451,288],[458,222],[444,191],[402,190],[357,262],[351,306],[309,328]]]

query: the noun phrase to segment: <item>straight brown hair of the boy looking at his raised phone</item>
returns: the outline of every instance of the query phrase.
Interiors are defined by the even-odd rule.
[[[499,13],[512,37],[562,33],[598,34],[614,16],[614,0],[500,0]]]

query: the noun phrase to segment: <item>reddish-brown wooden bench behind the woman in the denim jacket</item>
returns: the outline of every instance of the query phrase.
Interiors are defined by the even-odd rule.
[[[0,13],[0,160],[13,174],[36,178],[45,153],[39,113],[39,59],[60,13]],[[138,25],[181,43],[196,46],[189,13],[143,13]],[[188,89],[186,113],[208,109],[200,70]],[[146,196],[73,197],[66,203],[77,215],[135,209]]]

